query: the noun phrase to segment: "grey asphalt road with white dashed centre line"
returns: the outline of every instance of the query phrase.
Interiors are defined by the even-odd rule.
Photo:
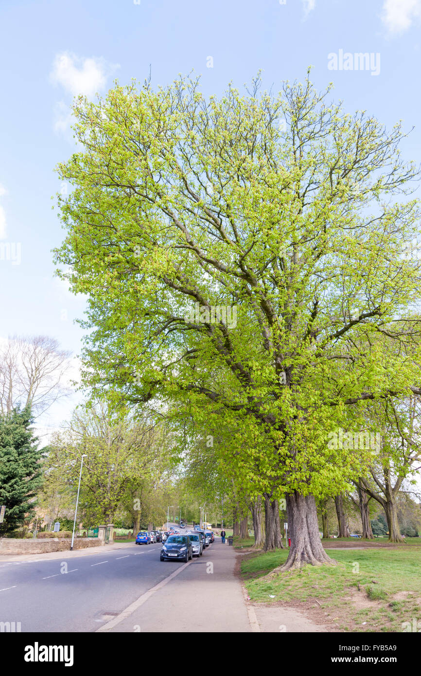
[[[1,563],[0,621],[21,631],[96,631],[170,575],[159,543],[55,560]],[[35,557],[34,557],[35,558]],[[61,572],[66,570],[67,573]],[[171,562],[172,569],[182,566]],[[105,619],[104,619],[105,618]]]

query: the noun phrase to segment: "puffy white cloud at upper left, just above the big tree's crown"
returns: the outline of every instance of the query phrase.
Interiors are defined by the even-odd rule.
[[[119,68],[101,57],[81,58],[68,51],[55,55],[51,81],[72,96],[83,94],[93,96],[104,89],[107,78]]]

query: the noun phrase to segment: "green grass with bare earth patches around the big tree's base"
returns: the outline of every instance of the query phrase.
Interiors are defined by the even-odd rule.
[[[288,550],[277,550],[241,562],[251,600],[310,606],[327,625],[335,619],[337,631],[403,631],[402,623],[412,618],[421,626],[421,550],[330,551],[337,566],[305,566],[267,577],[287,556]]]

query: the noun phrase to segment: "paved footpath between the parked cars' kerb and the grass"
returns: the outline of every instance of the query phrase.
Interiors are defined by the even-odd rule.
[[[168,573],[174,567],[174,577],[139,596],[98,631],[259,631],[234,575],[235,559],[234,548],[222,545],[217,537],[203,556],[180,568],[176,562],[161,562]]]

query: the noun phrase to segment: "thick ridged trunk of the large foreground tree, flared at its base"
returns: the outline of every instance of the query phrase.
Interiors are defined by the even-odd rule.
[[[301,568],[306,563],[317,566],[336,564],[323,549],[317,521],[314,496],[301,493],[287,495],[288,529],[291,530],[291,548],[287,561],[275,571]]]

